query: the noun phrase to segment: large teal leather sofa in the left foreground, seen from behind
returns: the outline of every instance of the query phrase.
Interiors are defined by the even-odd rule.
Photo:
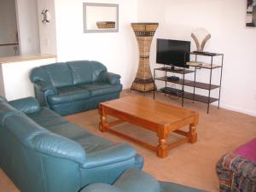
[[[1,168],[21,192],[78,192],[143,167],[129,145],[96,137],[32,97],[0,97],[0,154]]]

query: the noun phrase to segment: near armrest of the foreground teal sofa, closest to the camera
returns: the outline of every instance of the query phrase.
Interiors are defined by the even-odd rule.
[[[96,166],[106,166],[136,157],[137,151],[127,144],[115,144],[109,148],[87,154],[86,162],[82,168],[93,168]]]

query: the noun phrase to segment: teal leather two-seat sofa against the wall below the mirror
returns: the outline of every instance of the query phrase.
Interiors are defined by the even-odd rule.
[[[42,106],[61,115],[98,107],[119,98],[120,76],[97,61],[67,61],[32,69],[30,79]]]

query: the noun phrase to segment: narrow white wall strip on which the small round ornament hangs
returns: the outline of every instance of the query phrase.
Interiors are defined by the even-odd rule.
[[[42,22],[42,10],[48,9],[49,23]],[[55,0],[38,0],[38,27],[42,54],[56,55]]]

